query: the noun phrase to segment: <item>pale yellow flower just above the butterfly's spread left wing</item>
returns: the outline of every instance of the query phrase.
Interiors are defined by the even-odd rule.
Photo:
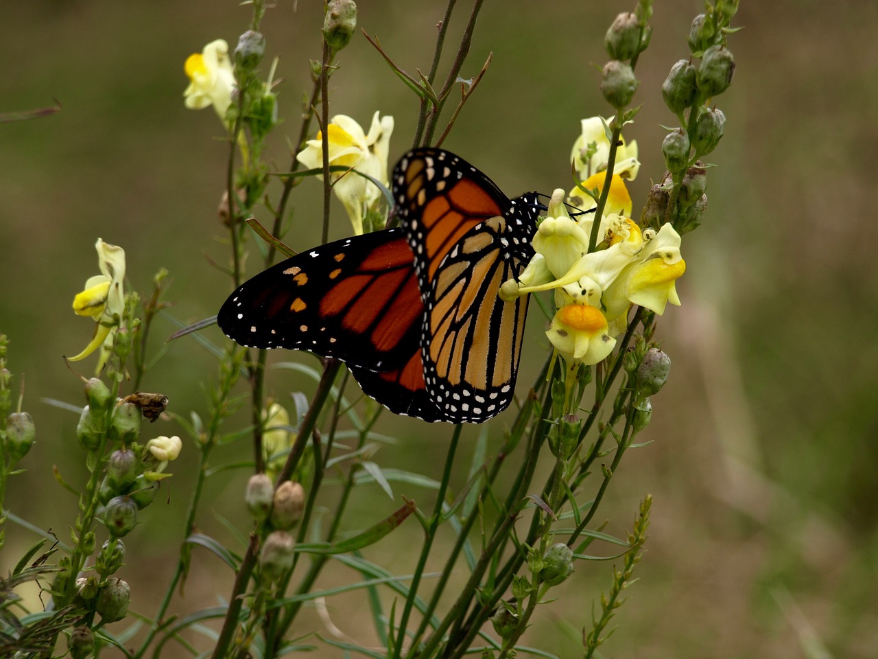
[[[389,185],[387,178],[387,155],[390,150],[390,136],[393,133],[393,118],[372,116],[369,134],[366,134],[354,119],[344,114],[336,114],[327,126],[329,141],[329,166],[341,165],[357,170]],[[296,156],[299,163],[309,170],[323,167],[322,134],[307,141],[306,148]],[[348,212],[356,235],[363,233],[363,217],[381,199],[381,191],[371,181],[350,172],[333,172],[335,196],[341,199]]]

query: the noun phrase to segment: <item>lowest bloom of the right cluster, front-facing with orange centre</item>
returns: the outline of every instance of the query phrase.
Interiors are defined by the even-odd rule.
[[[573,303],[558,309],[546,336],[568,365],[597,364],[615,347],[608,330],[601,309]]]

